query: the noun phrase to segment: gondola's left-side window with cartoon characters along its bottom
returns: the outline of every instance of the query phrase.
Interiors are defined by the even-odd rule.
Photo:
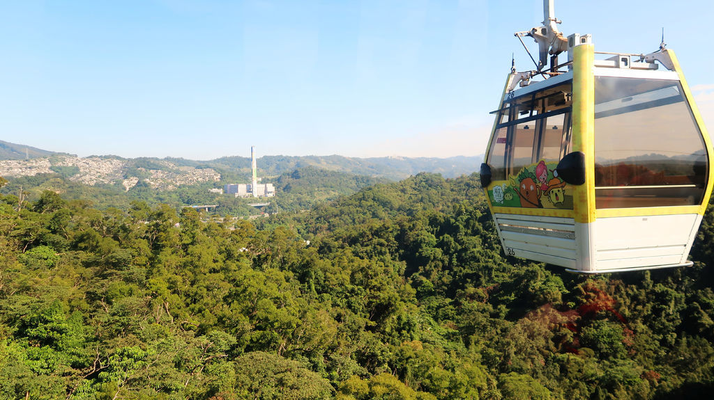
[[[572,82],[503,102],[486,163],[497,206],[573,209],[555,167],[570,151]]]

